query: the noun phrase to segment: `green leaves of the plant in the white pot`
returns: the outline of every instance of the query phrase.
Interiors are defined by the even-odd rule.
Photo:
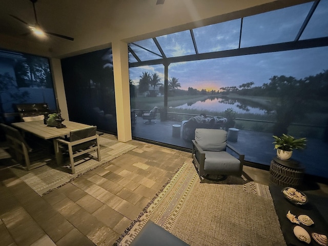
[[[284,151],[293,151],[296,149],[304,149],[306,147],[306,138],[298,138],[291,135],[282,134],[282,136],[273,136],[275,139],[272,144],[275,145],[275,149],[281,149]]]

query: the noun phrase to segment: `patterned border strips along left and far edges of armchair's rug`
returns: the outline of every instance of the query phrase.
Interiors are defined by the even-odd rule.
[[[168,195],[168,193],[170,192],[171,188],[174,186],[174,181],[176,181],[179,173],[183,172],[188,165],[190,165],[191,163],[187,163],[184,162],[182,163],[182,165],[171,175],[171,177],[169,178],[169,180],[162,186],[162,188],[155,194],[155,196],[152,198],[152,200],[146,205],[146,207],[144,209],[142,209],[142,211],[140,212],[140,214],[137,216],[137,218],[135,220],[132,221],[132,223],[130,224],[130,226],[119,236],[119,238],[114,242],[113,246],[122,246],[122,240],[129,235],[129,233],[131,232],[131,230],[133,229],[133,227],[136,226],[136,223],[141,223],[141,227],[134,229],[134,232],[137,231],[139,232],[143,226],[145,226],[146,222],[150,219],[150,216],[148,216],[148,214],[150,213],[149,210],[151,206],[153,207],[158,207],[160,202],[165,199],[165,197]],[[193,165],[192,165],[193,166]],[[194,167],[194,166],[193,166]],[[186,177],[185,177],[186,178]],[[247,189],[249,189],[249,193],[251,194],[255,194],[255,195],[259,195],[261,197],[268,197],[269,199],[271,198],[271,194],[269,191],[269,187],[268,187],[268,191],[261,191],[259,190],[259,193],[257,193],[257,189],[259,188],[259,184],[254,182],[254,181],[250,181],[247,178],[245,178],[244,176],[242,176],[241,179],[242,183],[235,183],[236,181],[236,177],[233,176],[229,176],[228,179],[223,180],[223,181],[211,181],[211,180],[205,180],[200,177],[197,173],[197,175],[195,175],[193,177],[193,180],[199,178],[199,182],[209,182],[209,183],[213,183],[213,184],[223,184],[223,185],[229,185],[230,184],[235,184],[235,185],[240,185],[240,189],[242,189],[245,192],[248,192]],[[238,179],[238,178],[237,178]],[[240,182],[240,180],[238,180],[238,182]],[[195,182],[193,182],[195,183]],[[169,186],[170,185],[170,186]],[[242,185],[242,186],[241,186]],[[246,187],[247,186],[247,187]],[[264,185],[262,185],[264,186]],[[238,187],[239,188],[239,187]],[[160,199],[160,202],[157,202],[156,204],[154,204],[154,202]],[[152,208],[152,214],[155,212],[156,208]],[[144,217],[144,218],[143,218]],[[145,218],[147,217],[147,218]],[[143,218],[141,220],[141,218]]]

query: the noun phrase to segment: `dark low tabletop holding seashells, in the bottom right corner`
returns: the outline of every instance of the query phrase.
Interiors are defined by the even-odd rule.
[[[325,219],[322,217],[323,213],[326,213],[326,211],[319,211],[317,207],[315,206],[315,201],[320,201],[323,203],[328,204],[328,197],[324,196],[316,196],[313,194],[306,194],[308,196],[308,203],[304,205],[295,205],[291,202],[289,202],[282,194],[281,190],[282,188],[271,184],[270,187],[270,193],[273,199],[273,203],[275,206],[275,210],[279,219],[281,231],[283,233],[284,239],[286,241],[287,245],[293,245],[293,246],[304,246],[304,245],[316,245],[319,244],[312,238],[311,233],[316,232],[319,234],[323,234],[328,236],[328,223],[325,221]],[[292,214],[294,214],[296,217],[298,217],[301,214],[305,214],[310,216],[310,218],[314,221],[314,224],[310,227],[304,226],[302,223],[295,224],[292,223],[288,218],[286,218],[286,214],[288,211],[291,211]],[[299,241],[296,236],[293,233],[293,229],[295,226],[300,226],[304,228],[311,236],[311,243],[304,243],[302,241]]]

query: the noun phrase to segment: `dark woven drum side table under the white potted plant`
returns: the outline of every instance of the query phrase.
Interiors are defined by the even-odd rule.
[[[270,165],[270,181],[278,186],[297,188],[303,181],[304,170],[296,160],[274,157]]]

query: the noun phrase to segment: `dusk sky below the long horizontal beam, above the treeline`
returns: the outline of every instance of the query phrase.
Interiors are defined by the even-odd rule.
[[[251,81],[254,86],[262,86],[274,75],[300,79],[324,70],[328,70],[328,47],[171,64],[169,78],[178,78],[183,90],[188,87],[218,90]],[[162,65],[130,68],[130,78],[135,85],[142,72],[157,73],[164,83]]]

